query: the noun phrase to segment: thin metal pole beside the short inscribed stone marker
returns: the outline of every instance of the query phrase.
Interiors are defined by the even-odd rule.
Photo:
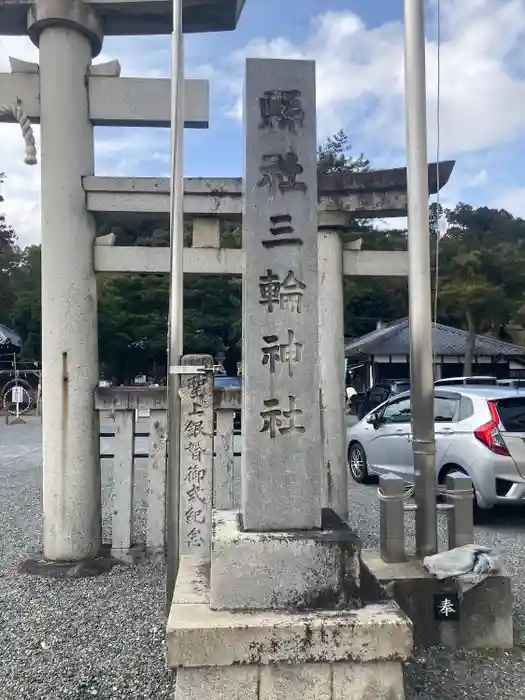
[[[166,488],[166,612],[169,614],[179,567],[180,487],[180,374],[183,352],[184,271],[183,135],[184,44],[182,0],[173,0],[171,41],[171,197],[170,197],[170,303],[168,319],[168,473]]]

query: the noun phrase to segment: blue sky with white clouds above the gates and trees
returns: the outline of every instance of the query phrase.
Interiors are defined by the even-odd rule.
[[[234,33],[190,36],[187,77],[210,80],[208,131],[185,132],[185,174],[242,174],[240,94],[246,56],[317,62],[319,140],[343,128],[375,168],[405,164],[402,0],[247,0]],[[429,160],[437,154],[437,15],[427,2]],[[1,31],[1,28],[0,28]],[[525,0],[441,0],[440,155],[457,161],[442,194],[525,216]],[[38,60],[25,38],[8,57]],[[169,39],[106,40],[97,62],[126,76],[168,76]],[[1,103],[1,95],[0,95]],[[38,139],[38,129],[35,129]],[[165,176],[167,130],[96,130],[97,175]],[[3,209],[22,244],[38,242],[39,168],[23,163],[16,126],[0,125]]]

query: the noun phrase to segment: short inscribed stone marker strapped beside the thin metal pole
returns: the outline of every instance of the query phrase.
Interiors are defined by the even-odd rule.
[[[186,366],[213,367],[211,355]],[[181,376],[180,553],[209,559],[213,500],[213,372]]]

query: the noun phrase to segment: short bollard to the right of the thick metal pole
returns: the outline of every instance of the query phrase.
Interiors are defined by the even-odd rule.
[[[455,549],[474,542],[472,479],[461,472],[447,475],[448,548]]]

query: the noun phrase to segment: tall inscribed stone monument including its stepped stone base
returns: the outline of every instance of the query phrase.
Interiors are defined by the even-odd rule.
[[[242,507],[181,557],[177,700],[404,697],[412,629],[361,602],[359,543],[321,502],[315,64],[246,65]]]

